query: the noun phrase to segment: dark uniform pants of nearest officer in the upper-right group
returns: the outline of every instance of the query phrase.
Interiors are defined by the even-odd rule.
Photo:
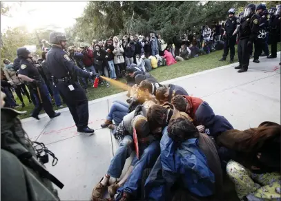
[[[247,45],[249,39],[240,39],[238,43],[238,59],[239,65],[244,70],[248,70],[249,61],[250,61],[250,54],[249,50],[250,47]]]

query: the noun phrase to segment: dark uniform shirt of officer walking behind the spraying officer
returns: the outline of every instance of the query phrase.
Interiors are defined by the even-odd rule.
[[[31,63],[26,59],[21,60],[21,65],[19,67],[19,74],[28,76],[29,78],[44,83],[44,80],[39,74],[39,70],[37,69],[37,67],[35,67],[33,63]]]

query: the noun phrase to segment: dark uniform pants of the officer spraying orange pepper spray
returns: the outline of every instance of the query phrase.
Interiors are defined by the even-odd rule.
[[[72,85],[74,90],[70,91],[69,85]],[[88,99],[81,85],[77,82],[71,84],[57,83],[57,87],[59,94],[64,99],[64,103],[69,108],[77,129],[87,127],[89,120]]]

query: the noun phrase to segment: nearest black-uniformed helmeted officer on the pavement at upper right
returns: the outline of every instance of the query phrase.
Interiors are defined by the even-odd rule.
[[[239,65],[235,69],[238,72],[246,72],[248,70],[250,54],[249,50],[253,42],[258,37],[259,21],[258,15],[255,14],[255,4],[251,3],[244,9],[242,21],[240,22],[240,30],[238,33],[238,59]]]

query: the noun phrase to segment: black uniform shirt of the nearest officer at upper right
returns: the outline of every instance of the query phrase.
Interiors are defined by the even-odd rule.
[[[243,19],[240,25],[239,39],[249,38],[253,43],[255,39],[257,39],[259,34],[259,17],[257,14],[253,14],[252,17],[246,17]]]

